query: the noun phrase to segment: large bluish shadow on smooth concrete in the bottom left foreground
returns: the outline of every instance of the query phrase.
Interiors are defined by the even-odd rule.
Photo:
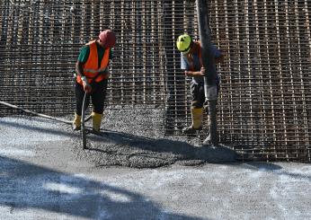
[[[21,209],[40,209],[47,211],[46,217],[59,213],[91,219],[200,219],[168,213],[127,189],[2,156],[0,180],[0,204],[10,208],[9,217]]]

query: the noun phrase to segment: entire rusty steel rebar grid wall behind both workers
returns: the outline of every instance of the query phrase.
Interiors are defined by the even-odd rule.
[[[310,161],[311,3],[210,3],[212,38],[226,56],[220,142],[244,159]],[[117,45],[107,108],[163,108],[167,134],[191,124],[191,79],[174,41],[182,32],[198,38],[194,1],[2,0],[0,25],[1,100],[72,113],[79,49],[110,28]],[[0,108],[0,116],[16,113]]]

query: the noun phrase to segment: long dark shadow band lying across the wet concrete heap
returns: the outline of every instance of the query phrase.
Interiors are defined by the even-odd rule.
[[[101,145],[93,145],[89,150],[102,153],[106,153],[104,149],[105,145],[120,145],[126,146],[129,153],[130,147],[134,152],[140,149],[145,153],[157,153],[160,157],[164,154],[173,154],[176,160],[200,160],[206,163],[227,163],[235,162],[236,159],[235,151],[224,145],[218,145],[218,147],[211,145],[195,146],[178,140],[136,136],[108,129],[102,129],[98,136],[90,136],[90,140],[96,141]]]

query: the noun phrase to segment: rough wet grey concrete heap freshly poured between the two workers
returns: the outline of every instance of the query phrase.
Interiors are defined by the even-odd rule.
[[[193,136],[164,136],[163,116],[163,110],[138,107],[106,110],[100,136],[87,136],[88,150],[78,150],[80,139],[74,138],[73,145],[81,158],[96,166],[155,168],[173,163],[198,165],[235,161],[235,152],[227,147],[203,147],[200,139]]]

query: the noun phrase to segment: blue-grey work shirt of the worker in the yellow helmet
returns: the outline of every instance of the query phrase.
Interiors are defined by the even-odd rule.
[[[212,56],[215,58],[221,57],[221,51],[216,48],[215,45],[210,46],[210,51],[212,53]],[[193,53],[192,54],[192,62],[193,62],[193,67],[194,69],[191,69],[191,64],[189,63],[187,57],[184,57],[183,54],[181,53],[181,69],[182,70],[187,70],[187,71],[200,71],[200,57],[199,53]],[[215,67],[215,72],[216,72],[216,66]],[[217,73],[217,72],[216,72]],[[216,74],[216,84],[219,84],[219,77],[218,74]],[[194,84],[199,84],[204,82],[203,76],[192,76],[192,82]]]

